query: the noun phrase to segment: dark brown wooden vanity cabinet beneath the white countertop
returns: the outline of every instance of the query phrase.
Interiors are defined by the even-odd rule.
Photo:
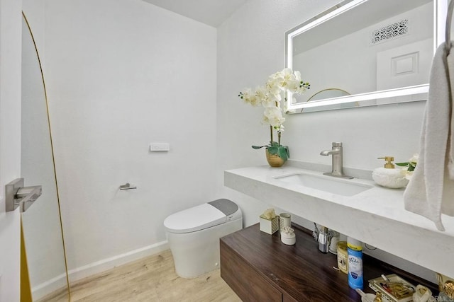
[[[295,245],[284,245],[279,232],[260,231],[258,224],[220,239],[221,277],[243,301],[361,301],[336,270],[337,256],[319,252],[311,232],[294,225]],[[413,284],[436,285],[364,255],[364,282],[381,274],[399,274]]]

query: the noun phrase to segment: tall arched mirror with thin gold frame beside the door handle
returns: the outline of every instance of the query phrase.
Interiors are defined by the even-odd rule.
[[[52,153],[45,82],[26,16],[22,19],[21,176],[43,194],[22,214],[33,301],[50,293],[68,296],[69,284]]]

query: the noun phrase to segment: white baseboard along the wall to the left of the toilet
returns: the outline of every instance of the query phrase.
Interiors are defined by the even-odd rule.
[[[155,255],[159,252],[162,252],[163,250],[168,249],[169,244],[167,243],[167,240],[164,240],[161,241],[160,243],[155,243],[153,245],[148,245],[143,248],[138,248],[137,250],[131,250],[130,252],[125,252],[124,254],[121,255],[116,255],[114,257],[90,263],[89,265],[84,265],[83,267],[70,269],[68,271],[70,284],[74,284],[74,282],[85,277],[92,276],[93,274],[98,274],[108,269],[118,267],[118,265],[124,265],[128,262],[132,262],[150,255]]]

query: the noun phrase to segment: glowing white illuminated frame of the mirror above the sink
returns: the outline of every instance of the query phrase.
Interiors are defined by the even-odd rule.
[[[369,1],[369,0],[343,0],[338,3],[336,6],[328,8],[326,11],[319,13],[319,15],[310,18],[309,20],[301,23],[296,28],[292,28],[285,33],[285,62],[286,67],[292,69],[293,61],[293,45],[292,38],[296,37],[300,33],[303,33],[306,30],[310,30],[315,26],[336,18],[340,16],[345,11],[348,11],[360,4]],[[453,0],[454,1],[454,0]],[[448,11],[448,0],[433,0],[433,54],[435,54],[438,45],[440,45],[445,40],[445,18]],[[322,100],[316,100],[306,103],[292,103],[286,101],[284,106],[287,114],[291,113],[300,113],[304,112],[304,108],[317,108],[322,111],[324,106],[343,104],[343,103],[361,103],[367,100],[377,100],[385,98],[396,98],[406,95],[419,95],[422,94],[423,98],[419,100],[427,100],[429,84],[422,84],[416,86],[406,86],[402,88],[393,88],[383,91],[371,91],[368,93],[358,93],[353,95],[347,95],[339,98],[326,98]],[[292,100],[292,93],[287,94],[287,100]],[[392,103],[403,103],[416,100],[404,100],[402,102],[392,102]],[[387,103],[382,103],[380,105],[386,105]],[[375,104],[373,104],[375,105]],[[360,105],[360,107],[370,106],[370,104]],[[355,107],[352,107],[355,108]],[[314,112],[314,111],[311,111]]]

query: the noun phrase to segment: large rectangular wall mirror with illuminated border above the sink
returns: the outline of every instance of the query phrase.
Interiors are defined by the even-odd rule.
[[[336,87],[350,95],[289,94],[287,113],[426,100],[441,42],[436,16],[445,6],[445,0],[344,0],[289,30],[287,67],[301,72],[310,92]]]

